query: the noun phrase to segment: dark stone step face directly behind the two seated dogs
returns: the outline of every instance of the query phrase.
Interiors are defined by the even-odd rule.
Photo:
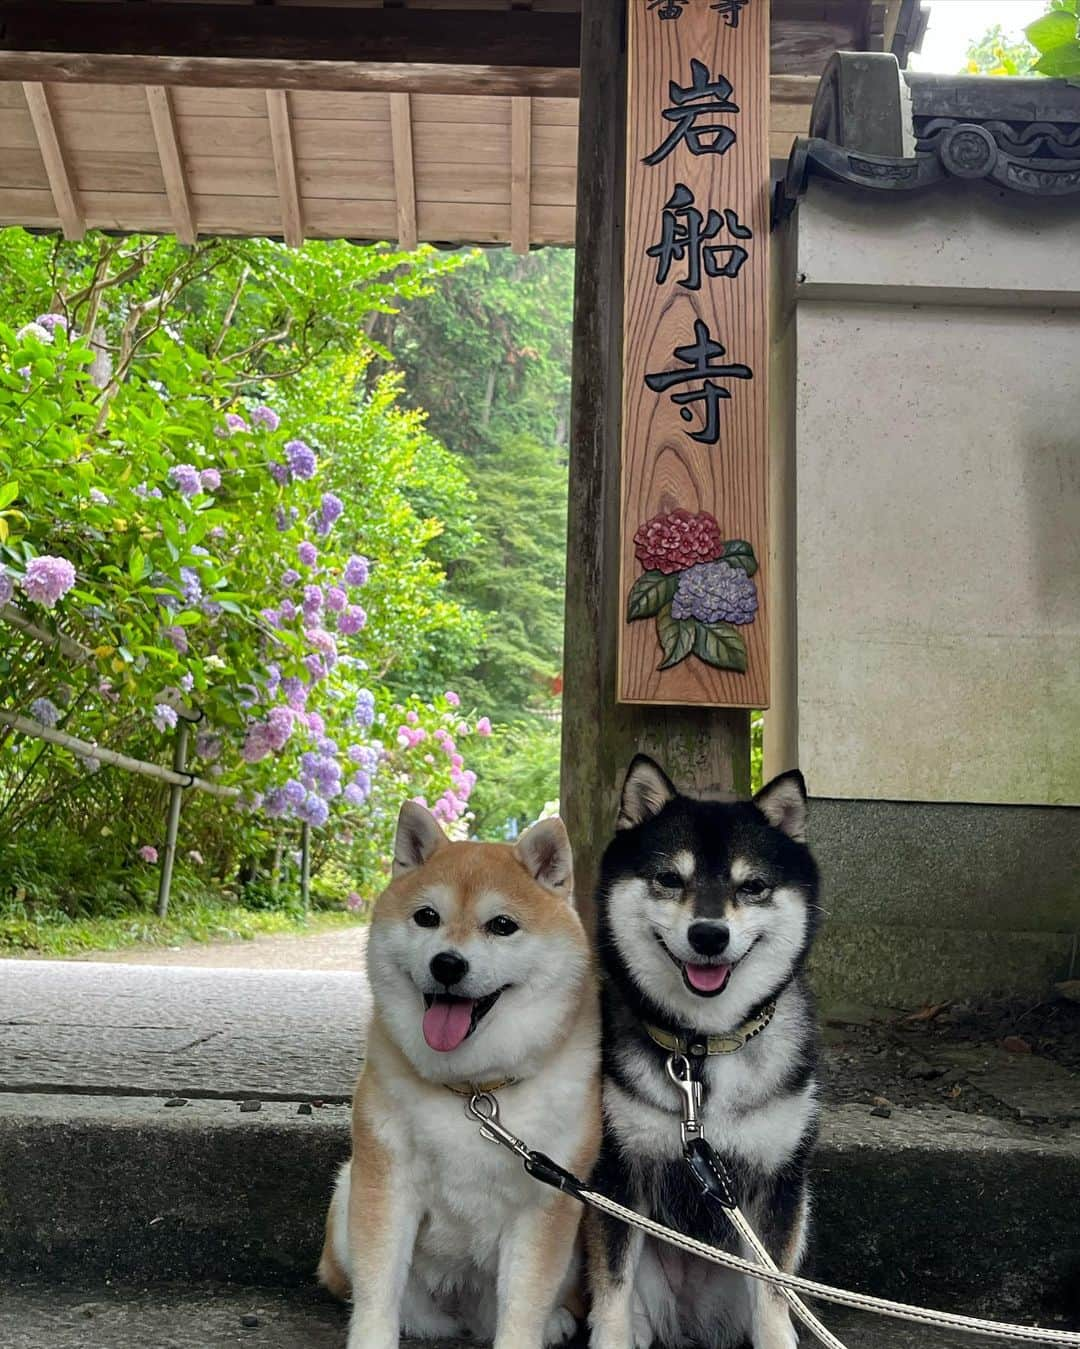
[[[348,1147],[344,1105],[0,1093],[0,1283],[310,1286]],[[1075,1126],[840,1106],[814,1178],[822,1280],[1080,1329]]]

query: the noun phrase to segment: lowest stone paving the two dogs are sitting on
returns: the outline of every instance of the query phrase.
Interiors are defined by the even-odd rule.
[[[1002,1340],[941,1336],[898,1321],[818,1309],[848,1349],[986,1349]],[[347,1313],[316,1294],[272,1288],[5,1288],[5,1349],[341,1349]],[[808,1345],[804,1334],[802,1345]],[[576,1345],[584,1345],[584,1336]],[[477,1349],[403,1341],[402,1349]]]

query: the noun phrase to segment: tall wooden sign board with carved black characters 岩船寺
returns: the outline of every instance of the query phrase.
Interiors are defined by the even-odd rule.
[[[627,0],[624,703],[769,704],[769,3]]]

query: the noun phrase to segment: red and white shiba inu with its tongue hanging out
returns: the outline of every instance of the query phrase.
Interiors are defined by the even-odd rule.
[[[353,1300],[348,1349],[396,1349],[402,1334],[542,1349],[574,1330],[580,1209],[464,1109],[488,1090],[531,1147],[578,1175],[595,1161],[599,1010],[572,885],[558,819],[516,846],[450,843],[427,811],[402,807],[371,924],[353,1155],[320,1263]]]

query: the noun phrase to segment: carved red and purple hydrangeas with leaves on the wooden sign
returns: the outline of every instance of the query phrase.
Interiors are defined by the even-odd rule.
[[[634,536],[644,568],[630,591],[627,621],[655,618],[663,658],[671,669],[690,656],[721,670],[746,670],[738,629],[758,616],[758,560],[742,538],[725,540],[716,517],[673,510],[654,515]]]

